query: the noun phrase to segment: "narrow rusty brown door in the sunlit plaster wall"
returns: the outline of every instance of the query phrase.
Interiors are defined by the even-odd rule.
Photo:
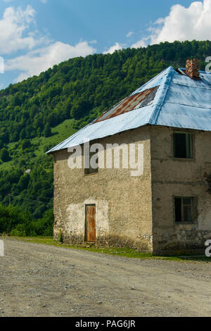
[[[86,206],[86,236],[87,242],[96,242],[96,206]]]

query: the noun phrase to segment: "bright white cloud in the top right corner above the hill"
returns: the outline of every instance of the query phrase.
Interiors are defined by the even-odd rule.
[[[170,14],[158,19],[148,29],[150,35],[132,46],[174,42],[175,40],[207,40],[211,31],[211,0],[194,1],[185,8],[180,4],[172,6]]]

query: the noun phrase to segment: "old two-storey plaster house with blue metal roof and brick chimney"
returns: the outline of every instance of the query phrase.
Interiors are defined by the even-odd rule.
[[[210,146],[211,74],[196,59],[167,68],[47,152],[54,157],[55,238],[60,232],[65,242],[154,254],[204,249]]]

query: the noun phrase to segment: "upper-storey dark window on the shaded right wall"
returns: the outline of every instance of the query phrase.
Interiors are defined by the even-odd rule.
[[[174,158],[192,158],[191,133],[174,133]]]

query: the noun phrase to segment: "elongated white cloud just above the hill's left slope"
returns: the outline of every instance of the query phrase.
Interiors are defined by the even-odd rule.
[[[16,82],[25,80],[27,77],[39,75],[44,70],[62,61],[76,56],[87,56],[94,54],[96,49],[88,42],[79,42],[75,46],[56,42],[49,46],[30,51],[28,54],[7,60],[5,71],[20,70],[22,73],[16,78]]]

